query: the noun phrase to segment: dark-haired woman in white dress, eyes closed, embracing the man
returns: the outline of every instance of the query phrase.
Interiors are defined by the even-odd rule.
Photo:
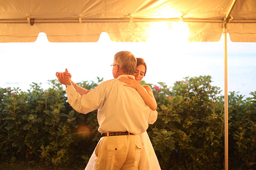
[[[137,66],[134,71],[134,77],[122,77],[119,78],[119,81],[126,83],[124,86],[129,86],[132,88],[135,88],[140,96],[144,99],[145,103],[151,108],[151,110],[155,111],[157,108],[157,102],[154,98],[152,89],[148,85],[140,85],[139,82],[143,79],[147,71],[147,65],[144,62],[142,58],[137,58]],[[65,73],[65,72],[64,72]],[[56,75],[61,74],[61,76],[64,75],[64,73],[56,73]],[[69,74],[70,75],[70,74]],[[71,75],[70,75],[71,78]],[[82,88],[79,85],[76,85],[73,81],[72,85],[76,89],[76,91],[80,94],[87,94],[91,90],[87,90],[85,88]],[[141,157],[140,157],[140,163],[139,163],[139,170],[160,170],[160,165],[157,160],[157,156],[154,152],[154,148],[151,144],[151,141],[148,137],[148,133],[145,131],[144,133],[140,134],[141,143],[143,143],[143,148],[141,150]],[[94,160],[95,160],[95,152],[93,152],[85,170],[93,170],[94,169]]]

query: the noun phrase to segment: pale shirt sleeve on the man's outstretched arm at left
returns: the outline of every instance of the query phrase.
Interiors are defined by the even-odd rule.
[[[104,86],[103,86],[104,87]],[[102,85],[98,85],[88,94],[80,95],[72,85],[67,86],[67,101],[79,113],[89,113],[102,108],[105,92]]]

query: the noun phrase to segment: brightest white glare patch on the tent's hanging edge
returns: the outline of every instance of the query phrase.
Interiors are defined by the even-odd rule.
[[[147,42],[157,43],[180,43],[187,42],[189,38],[189,28],[187,23],[179,22],[159,22],[152,23]]]

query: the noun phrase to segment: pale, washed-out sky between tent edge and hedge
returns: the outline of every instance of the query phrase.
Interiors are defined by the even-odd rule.
[[[228,38],[229,39],[229,38]],[[228,41],[228,91],[250,96],[256,91],[256,43]],[[0,87],[19,87],[56,79],[56,71],[68,68],[74,82],[112,79],[113,56],[131,51],[147,63],[143,80],[172,87],[184,77],[212,76],[212,85],[224,90],[224,43],[219,42],[112,42],[102,34],[98,42],[48,42],[40,33],[35,42],[0,43]],[[224,92],[223,92],[224,94]]]

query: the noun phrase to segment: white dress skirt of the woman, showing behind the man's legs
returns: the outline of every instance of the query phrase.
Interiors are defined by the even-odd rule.
[[[140,140],[143,144],[143,148],[141,149],[139,170],[161,170],[147,131],[140,134]],[[84,170],[93,170],[95,159],[96,155],[94,150]]]

